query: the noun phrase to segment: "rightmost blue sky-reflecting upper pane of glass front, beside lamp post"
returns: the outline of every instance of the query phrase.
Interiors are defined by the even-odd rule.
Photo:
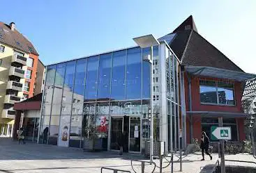
[[[143,58],[151,56],[151,49],[145,48],[142,49],[142,56]],[[151,63],[143,61],[142,63],[142,98],[148,99],[150,98],[150,82],[151,82]]]

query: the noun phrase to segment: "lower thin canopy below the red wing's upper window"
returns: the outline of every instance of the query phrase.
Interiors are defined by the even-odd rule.
[[[234,117],[249,117],[247,113],[229,113],[229,112],[213,112],[213,111],[187,111],[187,114],[199,115],[202,117],[223,117],[223,118],[234,118]]]

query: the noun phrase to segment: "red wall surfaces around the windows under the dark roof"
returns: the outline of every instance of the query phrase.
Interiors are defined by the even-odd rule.
[[[201,104],[200,101],[200,92],[199,92],[199,76],[191,76],[191,102],[192,102],[192,110],[189,109],[189,83],[188,76],[185,74],[184,76],[184,85],[185,85],[185,99],[186,99],[186,111],[213,111],[213,112],[229,112],[229,113],[243,113],[243,109],[241,107],[241,82],[234,81],[234,98],[235,98],[235,106],[220,106],[220,105],[210,105],[210,104]],[[204,80],[213,80],[218,81],[215,78],[206,78],[202,77]],[[221,80],[221,79],[220,79]],[[190,120],[189,114],[187,114],[187,142],[190,142]],[[244,133],[244,125],[243,118],[237,119],[237,128],[239,129],[239,140],[245,140],[246,135]],[[201,116],[193,114],[193,138],[200,139],[202,133],[201,127]]]

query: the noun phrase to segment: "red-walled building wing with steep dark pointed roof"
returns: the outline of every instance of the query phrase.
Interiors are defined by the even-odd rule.
[[[223,117],[223,126],[231,127],[233,141],[245,140],[244,120],[247,115],[243,113],[241,103],[243,85],[255,75],[243,72],[199,35],[192,16],[173,33],[176,35],[170,47],[181,60],[184,79],[181,88],[185,92],[185,105],[181,104],[181,107],[186,106],[183,113],[186,116],[186,138],[183,142],[200,139],[202,131],[210,135],[211,126],[218,126],[218,117]]]

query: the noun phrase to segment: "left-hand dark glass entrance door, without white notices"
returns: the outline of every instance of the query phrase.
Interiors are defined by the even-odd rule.
[[[110,149],[120,150],[119,139],[123,132],[123,117],[111,117]]]

